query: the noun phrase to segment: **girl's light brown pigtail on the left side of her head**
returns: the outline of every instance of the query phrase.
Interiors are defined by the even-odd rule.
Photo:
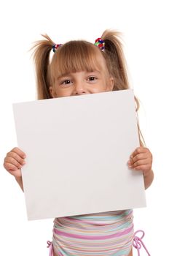
[[[37,41],[31,50],[34,49],[37,97],[38,99],[50,99],[50,76],[48,70],[50,64],[50,51],[55,44],[47,34],[42,36],[46,39]]]

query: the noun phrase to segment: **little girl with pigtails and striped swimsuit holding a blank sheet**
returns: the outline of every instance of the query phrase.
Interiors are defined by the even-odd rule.
[[[34,45],[38,99],[129,89],[125,58],[116,31],[104,31],[94,44],[78,40],[56,45],[47,35],[44,38]],[[137,111],[136,98],[135,103]],[[128,166],[143,171],[146,189],[154,176],[152,154],[144,147],[139,126],[138,135],[140,147],[131,152]],[[15,176],[21,189],[20,169],[24,164],[25,153],[19,148],[13,148],[4,159],[4,167]],[[132,244],[140,255],[141,244],[144,246],[141,238],[133,231],[133,210],[125,209],[56,218],[53,239],[48,245],[51,256],[132,256]]]

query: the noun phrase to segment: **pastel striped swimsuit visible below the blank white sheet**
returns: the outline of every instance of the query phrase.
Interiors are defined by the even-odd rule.
[[[50,255],[127,256],[133,238],[133,210],[56,218]]]

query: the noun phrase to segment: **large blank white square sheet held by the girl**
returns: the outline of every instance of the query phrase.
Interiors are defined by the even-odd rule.
[[[13,105],[28,219],[146,206],[132,90]]]

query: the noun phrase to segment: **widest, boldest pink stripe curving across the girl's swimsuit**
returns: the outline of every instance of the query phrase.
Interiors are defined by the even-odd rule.
[[[79,239],[88,239],[88,240],[103,240],[103,239],[119,237],[119,236],[126,235],[127,233],[130,233],[131,230],[133,230],[133,226],[128,228],[125,231],[122,231],[122,232],[119,232],[119,233],[116,233],[116,234],[112,234],[112,235],[109,235],[109,236],[82,236],[82,235],[75,235],[75,234],[65,233],[65,232],[59,231],[55,228],[53,229],[55,234],[60,235],[60,236],[66,236],[66,237],[70,237],[70,238],[79,238]]]

